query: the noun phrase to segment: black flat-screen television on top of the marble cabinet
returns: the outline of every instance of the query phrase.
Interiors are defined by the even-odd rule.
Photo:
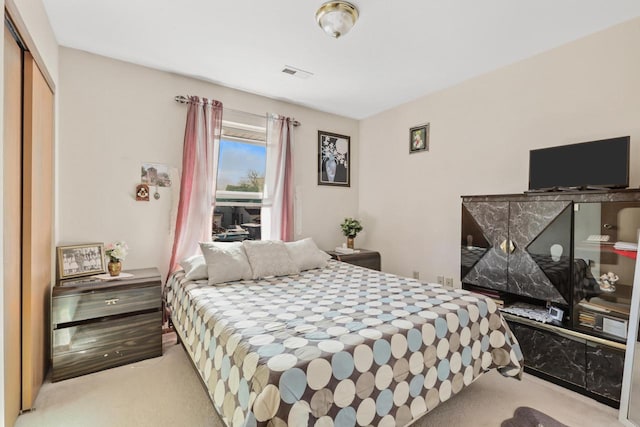
[[[628,136],[531,150],[529,190],[626,188]]]

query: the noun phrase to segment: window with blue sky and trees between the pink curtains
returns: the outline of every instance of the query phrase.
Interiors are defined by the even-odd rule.
[[[266,119],[225,110],[218,158],[214,229],[243,225],[259,239],[266,170]],[[247,225],[248,224],[248,225]],[[214,230],[215,232],[216,230]],[[257,233],[257,235],[256,235]]]

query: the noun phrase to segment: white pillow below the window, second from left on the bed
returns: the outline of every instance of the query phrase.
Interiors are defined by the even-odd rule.
[[[251,279],[251,266],[242,242],[202,242],[200,250],[207,262],[210,285]]]

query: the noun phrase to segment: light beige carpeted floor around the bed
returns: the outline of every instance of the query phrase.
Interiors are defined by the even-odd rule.
[[[16,427],[221,427],[207,394],[179,345],[162,357],[58,383],[46,382],[36,410]],[[618,411],[525,374],[493,371],[415,422],[415,427],[499,427],[519,407],[575,427],[619,426]]]

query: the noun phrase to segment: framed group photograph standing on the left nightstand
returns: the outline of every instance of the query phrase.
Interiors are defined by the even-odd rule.
[[[103,243],[58,246],[57,255],[60,280],[91,276],[106,271]]]

